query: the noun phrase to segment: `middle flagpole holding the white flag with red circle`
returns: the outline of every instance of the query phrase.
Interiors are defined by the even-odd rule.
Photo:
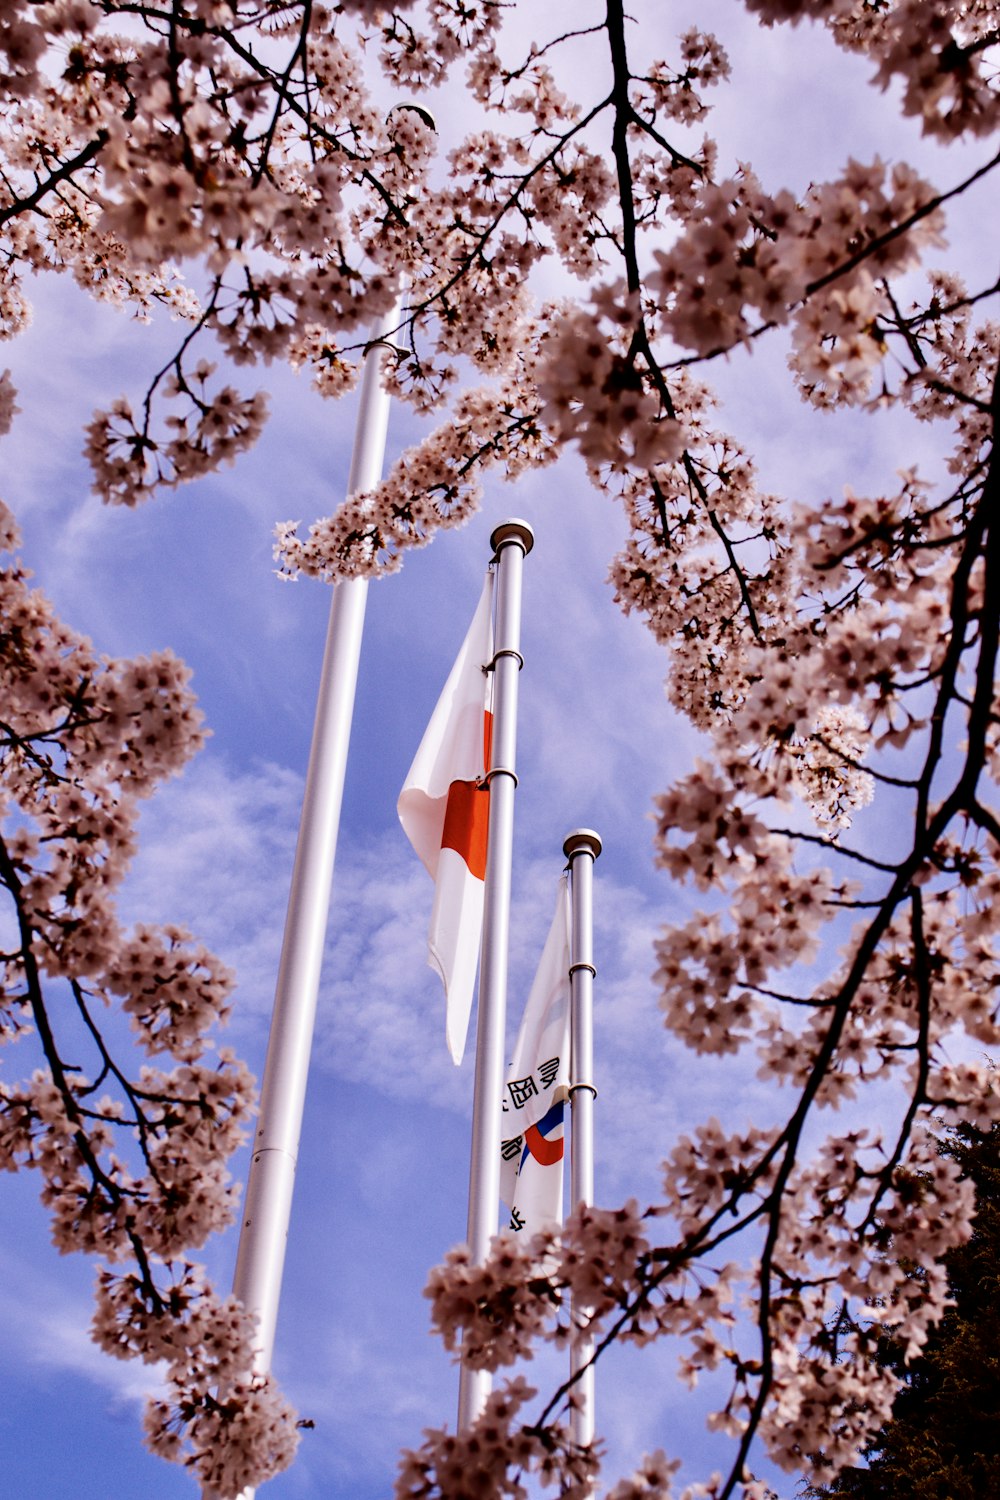
[[[514,843],[514,771],[517,741],[517,674],[520,656],[520,584],[534,544],[525,520],[505,520],[492,537],[496,556],[496,630],[493,650],[493,738],[490,819],[483,896],[480,1006],[475,1032],[472,1152],[469,1164],[468,1242],[472,1264],[489,1256],[499,1214],[501,1113],[507,1022],[507,946],[510,938],[510,867]],[[459,1431],[471,1426],[490,1394],[486,1370],[460,1368]]]

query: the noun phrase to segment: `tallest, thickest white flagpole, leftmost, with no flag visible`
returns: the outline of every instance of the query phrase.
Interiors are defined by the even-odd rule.
[[[373,489],[382,477],[388,394],[381,366],[399,316],[394,308],[381,321],[364,356],[348,496]],[[334,585],[232,1278],[234,1294],[258,1318],[253,1365],[258,1374],[267,1374],[274,1350],[366,600],[366,578]],[[244,1490],[240,1500],[252,1500],[255,1492]],[[207,1490],[202,1497],[213,1500]]]

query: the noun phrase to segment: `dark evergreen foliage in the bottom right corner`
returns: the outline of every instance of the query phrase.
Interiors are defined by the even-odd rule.
[[[999,1500],[1000,1497],[1000,1126],[963,1125],[942,1142],[976,1185],[972,1239],[946,1257],[955,1306],[906,1368],[885,1340],[880,1359],[906,1382],[892,1418],[847,1468],[808,1500]]]

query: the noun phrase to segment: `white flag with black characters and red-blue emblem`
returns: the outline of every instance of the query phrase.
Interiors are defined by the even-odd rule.
[[[564,1112],[570,1096],[570,886],[541,952],[504,1088],[501,1197],[510,1228],[562,1222]]]

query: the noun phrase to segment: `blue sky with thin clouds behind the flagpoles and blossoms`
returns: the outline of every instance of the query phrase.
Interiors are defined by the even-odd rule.
[[[646,8],[652,38],[691,24],[676,10],[664,21],[667,8]],[[808,28],[760,34],[723,0],[697,16],[718,21],[738,69],[709,117],[724,159],[754,160],[772,188],[804,188],[852,153],[927,158],[913,126],[895,123],[891,102],[864,87],[865,63],[838,57]],[[928,170],[942,186],[960,176],[958,165]],[[952,238],[961,255],[975,254],[972,220]],[[354,406],[321,402],[283,370],[240,372],[273,392],[273,418],[252,454],[138,512],[102,508],[87,496],[82,426],[96,405],[141,392],[174,333],[169,322],[144,328],[97,308],[66,280],[39,284],[34,324],[0,362],[22,406],[0,448],[0,483],[24,530],[25,562],[70,626],[109,654],[172,646],[193,669],[213,738],[145,808],[121,904],[136,920],[187,924],[235,966],[228,1041],[259,1072],[328,609],[324,585],[274,576],[271,525],[337,504]],[[739,358],[714,372],[727,400],[720,420],[747,438],[765,483],[819,498],[846,480],[864,489],[933,462],[928,434],[913,424],[876,432],[856,416],[796,411],[783,358],[780,348],[759,350],[751,366]],[[390,459],[417,430],[394,410]],[[472,1068],[471,1058],[462,1070],[447,1058],[439,986],[424,962],[430,882],[394,808],[475,606],[490,531],[511,514],[531,520],[537,542],[525,564],[508,1034],[549,922],[562,838],[589,825],[606,849],[595,872],[598,1202],[655,1197],[670,1140],[709,1113],[742,1125],[772,1108],[751,1065],[727,1072],[687,1058],[655,1008],[654,932],[693,902],[652,870],[648,813],[697,741],[669,711],[660,651],[639,621],[621,616],[604,582],[621,518],[573,462],[517,489],[493,482],[468,526],[414,554],[369,597],[276,1350],[289,1398],[316,1426],[268,1500],[387,1496],[400,1444],[454,1420],[456,1371],[427,1332],[421,1287],[465,1232]],[[874,843],[885,814],[876,806],[864,818],[859,836]],[[244,1158],[234,1173],[244,1179]],[[28,1178],[3,1188],[6,1492],[187,1500],[190,1479],[141,1446],[145,1372],[105,1359],[85,1338],[93,1268],[49,1246]],[[234,1254],[232,1236],[205,1254],[222,1284]],[[609,1478],[657,1446],[712,1466],[697,1420],[703,1401],[673,1380],[675,1356],[615,1356],[600,1376]],[[559,1377],[552,1358],[540,1362],[543,1386]],[[786,1482],[783,1494],[792,1490]]]

